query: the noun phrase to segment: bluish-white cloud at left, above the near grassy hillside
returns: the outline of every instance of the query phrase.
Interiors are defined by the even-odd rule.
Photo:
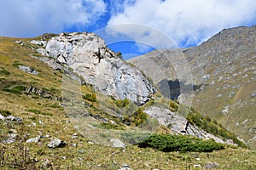
[[[106,12],[103,0],[3,0],[0,36],[33,37],[95,24]]]

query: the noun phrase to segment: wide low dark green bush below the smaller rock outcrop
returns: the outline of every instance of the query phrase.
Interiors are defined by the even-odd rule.
[[[203,140],[182,135],[154,134],[138,143],[139,147],[151,147],[164,152],[195,151],[212,152],[223,150],[224,144],[218,144],[213,139]]]

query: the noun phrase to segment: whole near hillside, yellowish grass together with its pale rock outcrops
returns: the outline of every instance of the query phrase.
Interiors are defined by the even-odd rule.
[[[86,38],[83,34],[75,36],[81,39],[72,42],[73,46],[68,45],[68,38],[73,38],[70,34],[30,39],[0,37],[0,168],[248,169],[256,166],[255,152],[237,147],[236,142],[241,143],[233,133],[197,115],[196,111],[187,110],[188,120],[177,114],[181,105],[157,93],[154,84],[136,67],[119,59],[104,45],[95,48],[94,40],[101,42],[98,37],[90,35],[94,38],[88,44],[83,42]],[[82,51],[88,54],[79,54],[79,48],[85,48]],[[76,55],[88,60],[83,63],[83,59],[73,59]],[[84,66],[89,62],[90,65]],[[113,72],[108,73],[113,65],[118,68],[115,74],[122,75],[119,79],[110,77]],[[91,66],[96,68],[90,69]],[[120,84],[126,80],[140,88],[131,91],[134,87],[124,84],[122,88]],[[105,81],[114,85],[109,87]],[[197,117],[212,128],[197,125]],[[219,133],[213,135],[211,130],[215,128],[229,134],[228,138]],[[146,140],[141,144],[143,147],[137,144],[152,133],[168,136],[187,133],[201,139],[182,135],[177,137],[182,139],[181,145],[186,140],[197,141],[206,150],[219,147],[207,153],[196,151],[195,146],[192,149],[176,146],[172,152],[169,147],[163,152],[160,150],[168,144],[160,150],[145,148]]]

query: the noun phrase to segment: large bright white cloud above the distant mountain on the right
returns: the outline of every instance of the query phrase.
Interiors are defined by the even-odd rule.
[[[198,44],[224,28],[256,24],[254,0],[137,0],[125,4],[122,11],[111,17],[108,26],[128,23],[151,26],[179,46]],[[116,31],[134,39],[143,37],[145,42],[161,41],[158,35],[142,36],[137,29]]]

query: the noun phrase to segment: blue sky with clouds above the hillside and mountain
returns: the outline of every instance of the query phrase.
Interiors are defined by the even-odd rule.
[[[96,32],[106,39],[108,47],[131,56],[154,48],[195,46],[224,28],[254,26],[256,3],[255,0],[1,0],[0,15],[0,36]]]

